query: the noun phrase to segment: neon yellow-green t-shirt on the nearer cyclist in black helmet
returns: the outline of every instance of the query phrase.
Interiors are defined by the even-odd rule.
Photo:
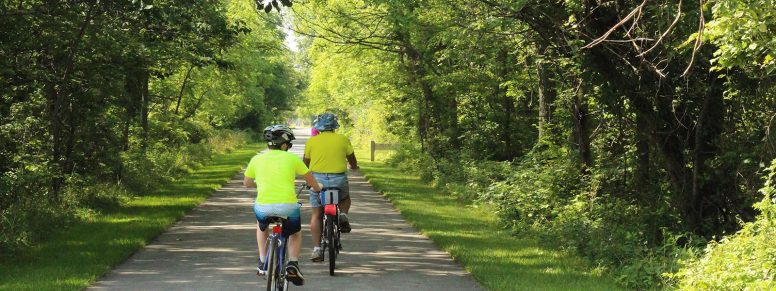
[[[297,203],[294,179],[309,171],[299,156],[269,150],[251,159],[245,176],[256,180],[257,204]]]

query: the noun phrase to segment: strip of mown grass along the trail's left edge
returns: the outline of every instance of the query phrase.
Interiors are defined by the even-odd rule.
[[[249,144],[133,199],[118,210],[54,231],[47,241],[0,262],[0,290],[81,290],[202,203],[256,154]],[[0,256],[2,258],[3,256]]]

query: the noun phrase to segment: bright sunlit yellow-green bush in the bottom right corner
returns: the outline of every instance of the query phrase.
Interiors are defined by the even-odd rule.
[[[765,176],[763,199],[755,204],[757,219],[719,242],[712,241],[702,256],[684,261],[673,276],[682,290],[770,290],[776,287],[776,160]]]

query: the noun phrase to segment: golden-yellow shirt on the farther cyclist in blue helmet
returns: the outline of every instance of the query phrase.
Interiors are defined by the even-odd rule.
[[[345,157],[353,154],[353,145],[344,135],[324,131],[313,136],[304,147],[310,170],[316,173],[344,173],[348,170]]]

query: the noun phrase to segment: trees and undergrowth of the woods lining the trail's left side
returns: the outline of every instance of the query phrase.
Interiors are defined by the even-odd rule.
[[[239,1],[0,1],[0,249],[188,174],[292,110],[278,15]],[[286,112],[286,113],[284,113]]]

